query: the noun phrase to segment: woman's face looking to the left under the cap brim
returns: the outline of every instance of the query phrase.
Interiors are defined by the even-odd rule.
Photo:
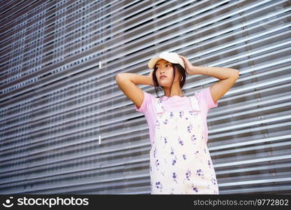
[[[158,83],[162,87],[170,87],[172,83],[173,78],[173,66],[172,63],[168,62],[165,59],[160,59],[158,62],[156,62],[156,78],[158,80]],[[176,73],[176,78],[173,82],[179,83],[179,73]]]

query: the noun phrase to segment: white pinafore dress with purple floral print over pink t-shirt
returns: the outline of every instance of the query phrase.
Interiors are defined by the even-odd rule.
[[[150,151],[151,194],[218,194],[197,98],[191,111],[165,111],[156,98],[154,143]]]

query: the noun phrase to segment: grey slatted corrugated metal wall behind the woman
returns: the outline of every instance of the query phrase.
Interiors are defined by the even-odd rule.
[[[291,193],[290,4],[1,1],[0,193],[149,194],[147,123],[114,77],[163,50],[241,73],[207,118],[220,193]]]

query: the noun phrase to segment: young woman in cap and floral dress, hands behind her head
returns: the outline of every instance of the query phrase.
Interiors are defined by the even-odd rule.
[[[218,183],[207,147],[207,113],[239,78],[237,69],[193,66],[175,52],[149,60],[148,76],[118,73],[119,88],[144,113],[151,139],[151,194],[218,194]],[[181,88],[186,75],[220,79],[186,97]],[[163,97],[144,92],[137,84],[163,89]]]

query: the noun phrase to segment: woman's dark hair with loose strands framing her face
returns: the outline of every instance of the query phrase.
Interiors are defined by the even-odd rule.
[[[179,74],[182,76],[182,80],[179,79],[179,85],[181,87],[182,92],[184,92],[182,87],[184,86],[184,84],[186,82],[186,71],[183,68],[183,66],[181,66],[180,64],[172,64],[172,66],[173,66],[173,80],[172,80],[171,87],[170,87],[170,95],[171,95],[172,85],[174,83],[174,78],[176,76],[176,71],[179,71]],[[156,69],[157,69],[157,67],[155,65],[154,66],[154,71],[153,71],[153,80],[154,80],[154,87],[155,87],[155,90],[156,90],[156,95],[158,96],[158,87],[162,87],[162,86],[160,84],[158,84],[158,79],[156,78]]]

